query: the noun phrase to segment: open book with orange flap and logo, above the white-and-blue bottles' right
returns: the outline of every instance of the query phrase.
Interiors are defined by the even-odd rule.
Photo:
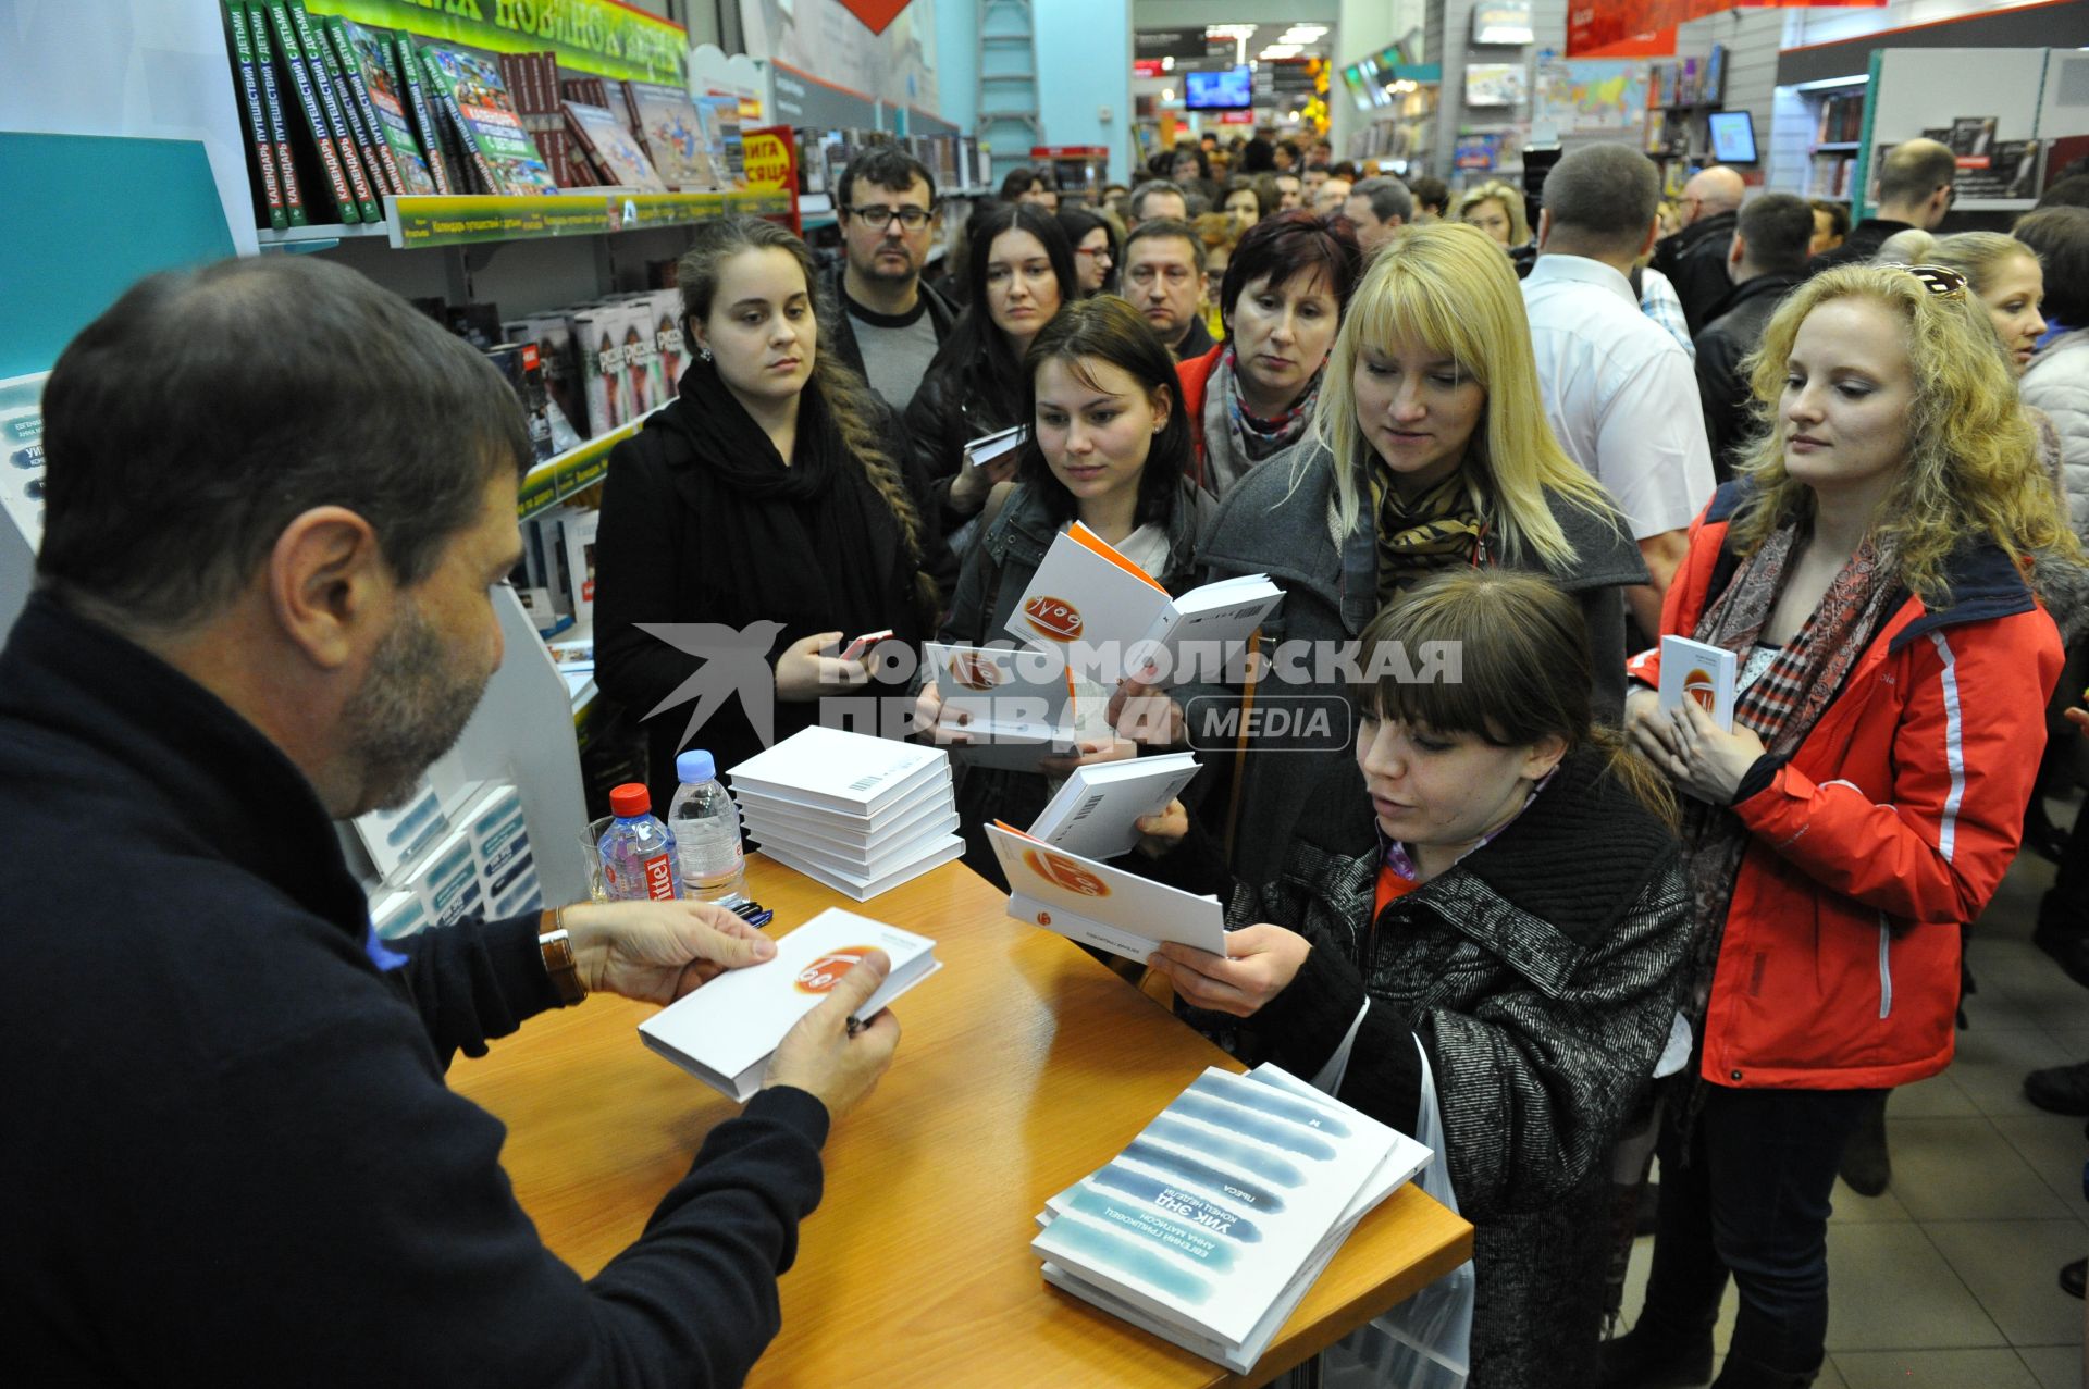
[[[1116,685],[1136,675],[1155,645],[1180,675],[1187,643],[1222,660],[1283,602],[1266,574],[1207,583],[1170,599],[1145,572],[1078,520],[1061,531],[1009,616],[1009,631],[1040,648],[1065,650],[1076,675]],[[1168,681],[1172,683],[1172,681]]]

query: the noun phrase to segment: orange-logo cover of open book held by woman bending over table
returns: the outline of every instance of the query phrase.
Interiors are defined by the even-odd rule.
[[[1143,961],[1164,940],[1226,952],[1226,911],[1139,873],[1034,840],[1013,825],[986,827],[1009,879],[1009,915],[1067,940]]]

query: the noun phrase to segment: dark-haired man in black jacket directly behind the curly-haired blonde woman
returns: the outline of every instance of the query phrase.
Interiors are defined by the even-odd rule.
[[[1734,288],[1694,338],[1705,439],[1711,441],[1711,466],[1721,482],[1732,476],[1753,432],[1748,405],[1755,395],[1740,374],[1740,359],[1763,340],[1763,328],[1786,290],[1807,278],[1811,240],[1813,209],[1805,198],[1765,192],[1740,209],[1740,226],[1726,253]]]

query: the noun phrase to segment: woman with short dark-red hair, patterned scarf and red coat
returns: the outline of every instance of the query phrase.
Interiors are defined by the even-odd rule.
[[[1264,217],[1233,249],[1218,286],[1226,340],[1176,366],[1193,478],[1214,497],[1306,437],[1362,261],[1347,219],[1308,211]]]

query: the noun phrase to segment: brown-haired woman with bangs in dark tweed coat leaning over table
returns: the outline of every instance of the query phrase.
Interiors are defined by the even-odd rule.
[[[1404,679],[1429,643],[1452,643],[1435,650],[1456,675]],[[1149,963],[1235,1055],[1439,1130],[1477,1230],[1469,1383],[1586,1385],[1609,1155],[1690,944],[1675,798],[1594,716],[1581,606],[1546,579],[1429,576],[1364,627],[1358,660],[1362,779],[1312,800],[1264,884],[1180,804],[1141,821],[1132,861],[1218,892],[1235,927],[1224,957],[1168,944]],[[1368,1331],[1331,1353],[1412,1383]]]

